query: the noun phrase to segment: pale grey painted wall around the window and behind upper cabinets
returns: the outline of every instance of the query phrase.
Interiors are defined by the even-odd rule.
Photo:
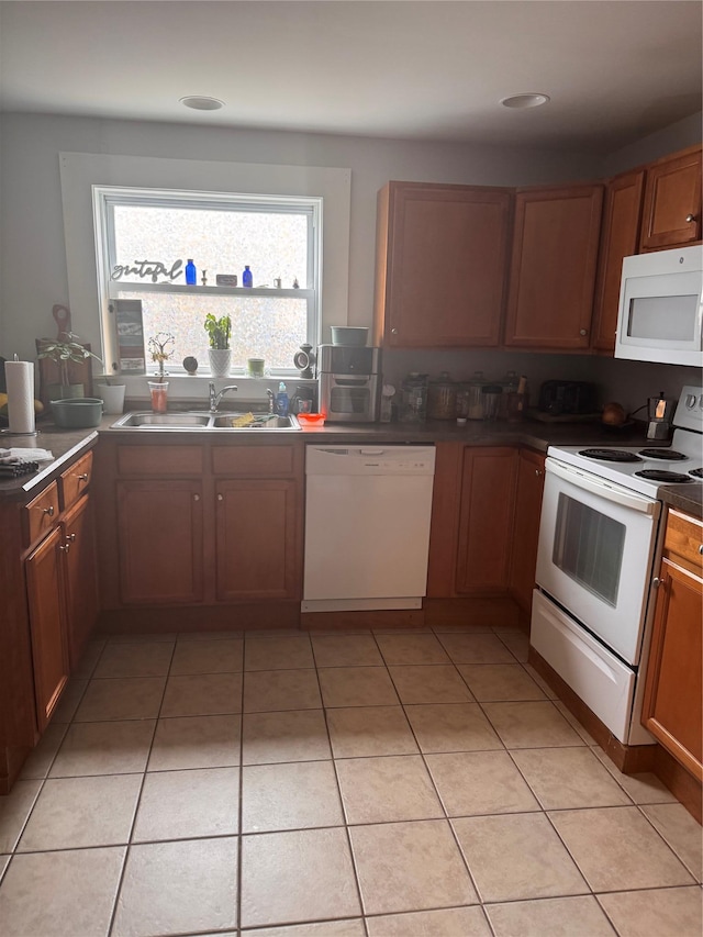
[[[376,194],[389,179],[468,185],[539,185],[601,178],[700,140],[700,121],[680,122],[612,159],[585,153],[409,143],[366,137],[203,130],[198,126],[9,114],[0,119],[0,355],[34,358],[34,339],[53,335],[52,306],[69,304],[58,154],[82,152],[193,160],[346,167],[352,170],[349,324],[372,315]],[[643,394],[678,393],[692,368],[585,356],[500,352],[388,356],[393,377],[415,370],[457,377],[481,367],[499,376],[526,370],[534,390],[550,377],[599,382],[603,399],[634,406]],[[478,364],[477,364],[478,361]],[[395,372],[395,373],[393,373]]]

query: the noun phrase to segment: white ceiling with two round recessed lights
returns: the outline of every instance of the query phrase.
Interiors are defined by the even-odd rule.
[[[0,110],[610,152],[701,110],[699,0],[0,2]],[[499,104],[543,91],[528,111]],[[225,102],[199,112],[189,94]]]

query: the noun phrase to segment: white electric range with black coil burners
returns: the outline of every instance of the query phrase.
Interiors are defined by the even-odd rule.
[[[703,484],[703,388],[683,388],[670,446],[550,446],[531,642],[613,735],[639,723],[663,484]]]

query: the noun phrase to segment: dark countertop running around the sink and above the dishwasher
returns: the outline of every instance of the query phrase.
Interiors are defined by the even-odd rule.
[[[183,443],[186,440],[202,442],[204,439],[222,440],[241,439],[249,443],[253,439],[268,440],[267,444],[283,443],[291,438],[304,443],[325,444],[425,444],[432,443],[466,443],[471,446],[527,446],[537,451],[546,453],[551,445],[644,445],[645,424],[639,423],[625,431],[614,431],[603,427],[600,423],[545,423],[535,420],[524,420],[520,423],[482,422],[469,420],[465,425],[457,425],[455,421],[433,420],[426,423],[368,423],[368,424],[326,424],[319,428],[301,430],[297,433],[266,433],[260,430],[238,430],[234,434],[232,430],[112,430],[112,424],[118,416],[103,416],[100,426],[96,430],[60,430],[51,421],[44,420],[37,423],[37,435],[33,437],[15,436],[10,434],[0,435],[0,447],[38,447],[49,449],[54,455],[54,461],[42,466],[41,470],[32,476],[23,476],[18,479],[0,480],[0,498],[20,499],[31,492],[36,486],[53,480],[58,476],[63,467],[81,451],[96,445],[98,437],[105,435],[114,438],[124,438],[125,442],[141,439],[145,442],[164,440]],[[671,487],[670,487],[671,488]],[[684,489],[683,497],[688,494],[685,486],[673,486],[674,489]],[[662,489],[663,490],[663,489]]]

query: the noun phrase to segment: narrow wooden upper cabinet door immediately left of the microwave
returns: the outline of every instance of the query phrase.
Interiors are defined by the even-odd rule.
[[[615,349],[623,257],[637,253],[645,171],[612,179],[605,190],[601,253],[593,312],[593,347]]]

